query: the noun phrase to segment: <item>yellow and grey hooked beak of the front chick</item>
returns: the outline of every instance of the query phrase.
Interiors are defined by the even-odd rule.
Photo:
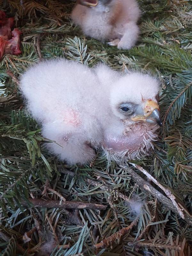
[[[131,118],[132,121],[143,121],[150,124],[158,124],[162,126],[159,106],[156,101],[147,100],[144,105],[139,106],[136,115]]]

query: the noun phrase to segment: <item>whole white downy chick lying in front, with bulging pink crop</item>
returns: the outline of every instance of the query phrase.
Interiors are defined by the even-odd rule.
[[[95,148],[122,161],[145,155],[161,124],[159,82],[149,75],[60,59],[29,68],[20,84],[43,136],[56,142],[47,148],[68,164],[90,163]]]

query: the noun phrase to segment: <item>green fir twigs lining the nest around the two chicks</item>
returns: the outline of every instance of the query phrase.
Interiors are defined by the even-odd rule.
[[[10,17],[15,15],[16,26],[23,33],[22,54],[5,55],[0,62],[0,255],[192,254],[192,227],[141,191],[130,175],[115,163],[108,165],[100,152],[92,165],[84,167],[67,167],[49,155],[43,145],[50,141],[41,136],[40,127],[26,113],[19,85],[7,73],[10,70],[19,78],[28,66],[39,61],[38,35],[43,58],[65,57],[90,67],[101,61],[123,72],[129,68],[152,70],[162,82],[159,100],[164,122],[154,151],[137,163],[169,188],[177,202],[191,214],[192,5],[188,0],[140,0],[139,4],[143,12],[140,40],[131,50],[123,51],[84,37],[70,20],[72,1],[0,1],[2,10]],[[65,168],[75,176],[60,172]],[[141,172],[137,173],[144,178]],[[87,178],[97,179],[100,185],[106,184],[110,189],[89,185]],[[31,197],[60,200],[50,191],[41,195],[47,179],[50,187],[68,201],[104,204],[107,210],[73,212],[23,206],[21,202],[28,202]],[[143,201],[138,225],[119,244],[113,244],[113,248],[96,251],[92,244],[135,219],[130,205],[118,197],[117,191]],[[115,210],[110,207],[109,198]],[[70,220],[70,214],[76,216],[76,220]],[[47,217],[60,245],[69,244],[70,248],[54,249],[55,236]],[[34,226],[38,231],[24,243],[22,236]],[[138,237],[140,242],[151,245],[138,246]],[[50,248],[46,252],[43,247],[42,254],[42,246],[47,241]]]

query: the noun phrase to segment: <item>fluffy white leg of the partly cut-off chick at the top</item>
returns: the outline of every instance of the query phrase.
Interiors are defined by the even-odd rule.
[[[123,37],[117,45],[118,49],[131,49],[137,42],[139,36],[139,27],[134,22],[126,24]]]

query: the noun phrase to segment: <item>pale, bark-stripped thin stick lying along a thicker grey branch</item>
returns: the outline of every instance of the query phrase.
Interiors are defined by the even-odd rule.
[[[130,163],[132,164],[132,163]],[[177,204],[177,202],[175,201],[175,196],[171,193],[171,191],[167,188],[164,188],[164,186],[162,186],[151,174],[149,174],[145,169],[143,169],[143,167],[141,167],[140,165],[138,164],[132,164],[135,168],[137,168],[138,170],[140,170],[142,173],[144,173],[149,180],[153,181],[153,183],[155,183],[159,188],[161,188],[165,195],[168,196],[173,205],[175,206],[175,208],[177,209],[177,212],[179,213],[180,217],[184,220],[185,219],[185,216],[182,212],[182,209],[179,207],[179,205]]]

